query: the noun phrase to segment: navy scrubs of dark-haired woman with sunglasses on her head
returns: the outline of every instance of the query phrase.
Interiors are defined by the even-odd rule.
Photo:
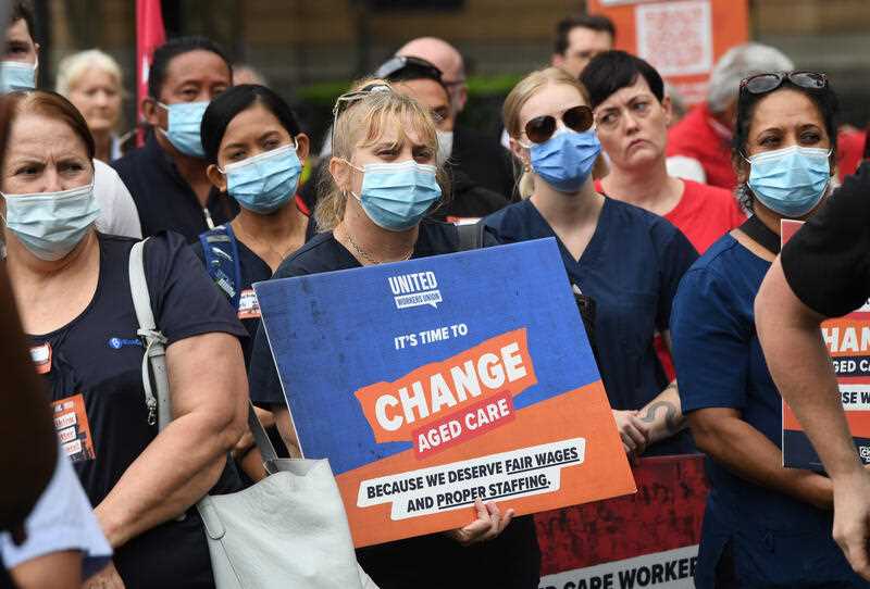
[[[739,411],[782,448],[782,398],[768,372],[753,305],[770,262],[730,235],[686,273],[671,316],[683,413]],[[831,538],[833,513],[759,487],[707,459],[710,496],[696,586],[714,586],[730,543],[741,587],[870,587],[852,573]],[[846,582],[846,585],[837,585]]]

